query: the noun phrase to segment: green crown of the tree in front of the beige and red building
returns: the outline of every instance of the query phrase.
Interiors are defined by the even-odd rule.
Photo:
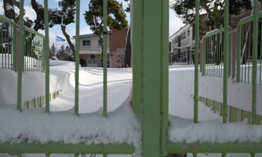
[[[86,23],[94,34],[101,35],[103,30],[103,1],[91,0],[89,3],[89,11],[84,14]],[[108,26],[112,26],[117,30],[122,30],[127,27],[126,14],[123,10],[122,3],[115,0],[108,0]]]

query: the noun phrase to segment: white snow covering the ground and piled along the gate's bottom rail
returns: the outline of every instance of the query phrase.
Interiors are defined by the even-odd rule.
[[[223,127],[220,124],[220,117],[202,102],[199,102],[199,120],[212,121],[203,121],[199,124],[192,123],[193,70],[193,65],[169,66],[169,114],[171,120],[169,138],[171,141],[190,142],[202,138],[203,141],[219,142],[220,139],[224,139],[221,138],[224,135],[220,134],[219,129],[215,129],[216,131],[212,134],[208,134],[207,128],[220,127],[220,129],[223,130]],[[11,70],[0,69],[0,142],[11,140],[13,142],[18,142],[24,139],[40,142],[51,140],[63,141],[67,143],[116,142],[130,143],[134,144],[137,148],[140,147],[141,129],[139,122],[132,113],[129,104],[130,97],[128,97],[132,86],[132,69],[108,68],[108,118],[102,117],[101,112],[103,101],[103,70],[102,68],[94,67],[80,68],[79,110],[81,118],[73,115],[75,86],[74,73],[74,62],[50,61],[50,92],[58,90],[62,90],[62,92],[50,103],[50,110],[52,111],[51,115],[46,115],[44,109],[24,109],[22,113],[16,111],[15,105],[12,104],[16,103],[17,75]],[[220,80],[213,78],[214,77],[200,77],[200,94],[204,95],[210,92],[211,98],[213,98],[214,95],[216,96],[216,99],[220,100],[222,97],[222,95],[219,94],[219,92],[221,92],[221,85],[218,83]],[[206,87],[204,86],[209,86],[210,84],[214,84],[218,93],[216,93],[214,88],[208,88],[210,89],[209,91],[205,90]],[[44,85],[43,73],[23,73],[23,101],[43,96]],[[232,86],[237,85],[234,84]],[[242,89],[241,86],[237,87],[238,88],[236,89]],[[250,89],[245,89],[247,93],[250,92],[249,90]],[[239,96],[240,99],[245,99],[241,98],[242,95],[246,95],[246,93],[237,96]],[[241,101],[239,102],[241,103]],[[240,104],[240,106],[241,105],[243,104]],[[32,118],[32,116],[35,118]],[[9,121],[6,120],[7,118],[9,118]],[[12,126],[16,126],[16,130],[14,130]],[[262,128],[260,126],[256,127],[258,133],[256,132],[255,136],[251,134],[253,135],[251,136],[252,138],[248,136],[250,133],[247,132],[248,129],[252,129],[251,125],[246,124],[246,122],[226,125],[226,128],[231,131],[236,130],[234,129],[235,127],[238,130],[243,130],[243,128],[247,130],[240,132],[239,136],[234,136],[231,140],[239,140],[239,138],[243,139],[239,141],[261,140]],[[184,129],[185,131],[181,131],[181,129]],[[203,130],[207,131],[203,132]],[[231,132],[229,131],[229,133]],[[75,136],[71,136],[72,134]],[[186,134],[191,134],[192,136],[188,137]],[[99,139],[94,138],[98,135]],[[204,138],[204,136],[206,138]],[[83,139],[80,137],[86,138]],[[213,139],[212,137],[216,137],[216,139]],[[230,140],[228,138],[226,139]],[[213,154],[208,154],[208,156],[212,155]],[[32,154],[27,154],[26,156],[32,156]],[[207,155],[204,154],[204,156]]]

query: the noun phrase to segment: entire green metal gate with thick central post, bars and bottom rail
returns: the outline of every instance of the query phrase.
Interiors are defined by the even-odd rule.
[[[250,152],[251,156],[254,156],[256,152],[262,152],[261,143],[171,143],[168,141],[167,129],[168,129],[168,8],[169,2],[166,0],[134,0],[132,1],[132,49],[133,49],[133,110],[137,115],[137,118],[142,124],[142,156],[144,157],[159,157],[165,156],[168,153],[193,153],[193,156],[197,156],[197,153],[201,152],[216,152],[222,153],[222,156],[226,156],[228,152]],[[195,48],[199,48],[199,0],[195,0]],[[76,88],[75,88],[75,116],[81,118],[79,114],[79,23],[80,23],[80,0],[76,0]],[[257,16],[257,1],[254,1],[255,6],[255,18],[254,18],[254,30],[258,23]],[[228,7],[229,1],[225,1],[225,16],[224,25],[228,26]],[[24,30],[23,26],[23,8],[24,0],[20,0],[20,30]],[[103,15],[107,15],[107,0],[103,0]],[[46,73],[45,79],[45,92],[46,92],[46,106],[45,112],[52,114],[49,108],[49,29],[48,29],[48,1],[44,1],[44,24],[45,24],[45,38],[44,44],[44,66],[43,71]],[[106,43],[107,32],[107,16],[103,18],[104,29],[103,35]],[[228,79],[228,54],[229,54],[229,28],[224,28],[223,36],[223,105],[222,115],[223,123],[226,123],[227,117],[227,79]],[[30,33],[29,33],[30,34]],[[255,34],[255,31],[254,31]],[[257,32],[256,32],[257,34]],[[27,33],[21,31],[19,40],[24,40]],[[217,35],[218,36],[218,35]],[[253,39],[257,39],[254,36]],[[206,40],[208,43],[212,41]],[[215,40],[214,40],[215,41]],[[205,42],[204,42],[205,43]],[[203,43],[203,44],[204,44]],[[210,43],[209,43],[210,44]],[[257,43],[253,41],[254,46]],[[18,103],[17,109],[22,111],[21,107],[21,94],[22,94],[22,71],[24,68],[24,53],[26,45],[22,42],[19,43],[18,54]],[[206,46],[203,46],[206,47]],[[106,51],[106,46],[105,50]],[[213,53],[213,52],[212,52]],[[253,51],[253,53],[255,53]],[[211,55],[211,54],[208,54]],[[103,60],[107,55],[103,55]],[[255,56],[254,54],[252,55]],[[198,123],[198,53],[195,57],[195,71],[194,71],[194,122]],[[205,57],[204,57],[205,58]],[[254,67],[254,66],[253,66]],[[203,66],[203,70],[204,70]],[[103,116],[107,115],[107,65],[103,61],[104,70],[104,88],[103,88]],[[222,74],[222,73],[221,73]],[[252,80],[255,82],[256,80]],[[255,84],[256,85],[256,84]],[[154,88],[152,88],[154,86]],[[253,85],[254,86],[254,85]],[[255,98],[255,96],[253,96]],[[255,106],[252,106],[252,124],[255,124]],[[153,122],[153,123],[152,123]],[[5,153],[17,153],[17,156],[21,156],[22,153],[45,153],[46,156],[50,156],[51,153],[73,153],[75,156],[79,156],[80,153],[100,153],[104,156],[110,153],[133,153],[135,148],[130,144],[65,144],[65,143],[2,143],[0,144],[0,152]]]

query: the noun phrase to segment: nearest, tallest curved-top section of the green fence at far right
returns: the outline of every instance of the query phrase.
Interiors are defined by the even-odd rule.
[[[254,15],[242,19],[237,25],[237,74],[236,81],[250,84],[252,79],[252,66],[255,66],[257,83],[261,85],[261,52],[262,52],[262,12],[258,13],[258,30],[254,31]],[[254,33],[258,37],[254,39]],[[253,40],[260,41],[255,47],[257,54],[253,55]],[[253,57],[256,56],[256,57]],[[254,60],[253,60],[254,59]],[[256,63],[253,65],[253,63]]]

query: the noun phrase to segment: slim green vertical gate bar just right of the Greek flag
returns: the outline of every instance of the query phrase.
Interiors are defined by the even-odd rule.
[[[79,25],[80,25],[80,0],[76,1],[77,15],[76,15],[76,76],[75,76],[75,114],[79,114],[79,48],[80,48],[80,39],[79,39]]]

